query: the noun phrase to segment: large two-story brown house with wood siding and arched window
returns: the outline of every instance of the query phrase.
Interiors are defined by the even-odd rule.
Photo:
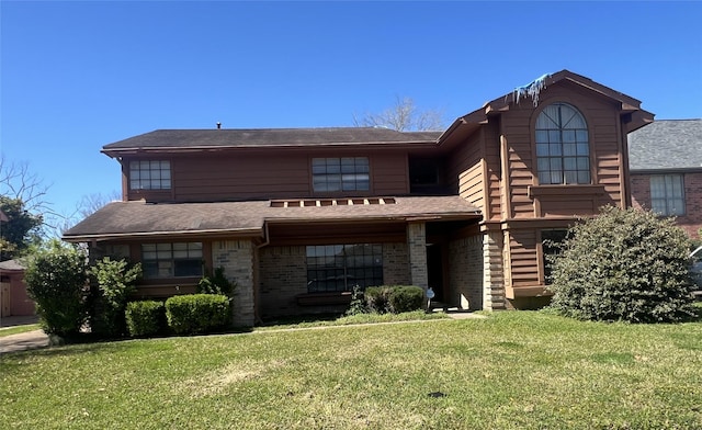
[[[354,285],[533,306],[547,295],[543,240],[630,204],[626,136],[652,121],[638,100],[563,70],[438,133],[155,131],[103,147],[124,202],[64,239],[140,261],[140,297],[193,292],[223,267],[240,325],[339,309]]]

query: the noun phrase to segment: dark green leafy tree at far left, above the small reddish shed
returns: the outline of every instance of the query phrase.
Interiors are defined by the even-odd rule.
[[[41,242],[42,215],[30,213],[21,199],[0,195],[0,210],[8,218],[0,228],[0,261],[22,256],[33,244]]]

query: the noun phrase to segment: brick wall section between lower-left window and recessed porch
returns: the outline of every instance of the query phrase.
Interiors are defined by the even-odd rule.
[[[236,283],[234,290],[234,325],[251,327],[254,322],[253,260],[250,240],[226,240],[212,244],[212,260],[224,268],[227,279]]]

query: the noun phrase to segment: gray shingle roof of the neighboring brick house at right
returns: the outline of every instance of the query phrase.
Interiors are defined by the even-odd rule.
[[[629,134],[632,171],[702,169],[702,120],[660,120]]]

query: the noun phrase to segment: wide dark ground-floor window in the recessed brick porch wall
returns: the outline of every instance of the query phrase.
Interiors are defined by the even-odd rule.
[[[352,291],[383,285],[383,246],[319,245],[307,247],[309,293]]]

